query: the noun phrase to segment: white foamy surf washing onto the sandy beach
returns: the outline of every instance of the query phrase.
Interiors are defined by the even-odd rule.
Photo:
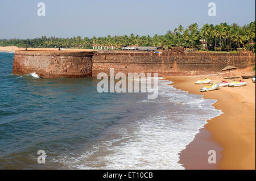
[[[159,98],[141,102],[158,105],[156,114],[127,118],[111,128],[112,136],[95,142],[77,157],[65,155],[59,161],[72,169],[184,169],[178,163],[180,151],[221,111],[211,106],[215,100],[177,90],[170,83],[159,81]],[[168,110],[171,104],[174,111]]]

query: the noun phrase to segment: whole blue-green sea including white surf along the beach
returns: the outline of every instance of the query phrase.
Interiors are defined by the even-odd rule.
[[[184,169],[180,151],[222,113],[163,78],[156,99],[100,93],[92,77],[12,75],[13,58],[0,52],[0,169]]]

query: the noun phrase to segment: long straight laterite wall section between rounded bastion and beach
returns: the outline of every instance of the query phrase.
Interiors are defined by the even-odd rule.
[[[92,76],[114,68],[115,73],[158,73],[167,75],[200,75],[218,73],[226,65],[247,68],[255,64],[253,53],[184,53],[165,51],[96,53],[93,56]]]

